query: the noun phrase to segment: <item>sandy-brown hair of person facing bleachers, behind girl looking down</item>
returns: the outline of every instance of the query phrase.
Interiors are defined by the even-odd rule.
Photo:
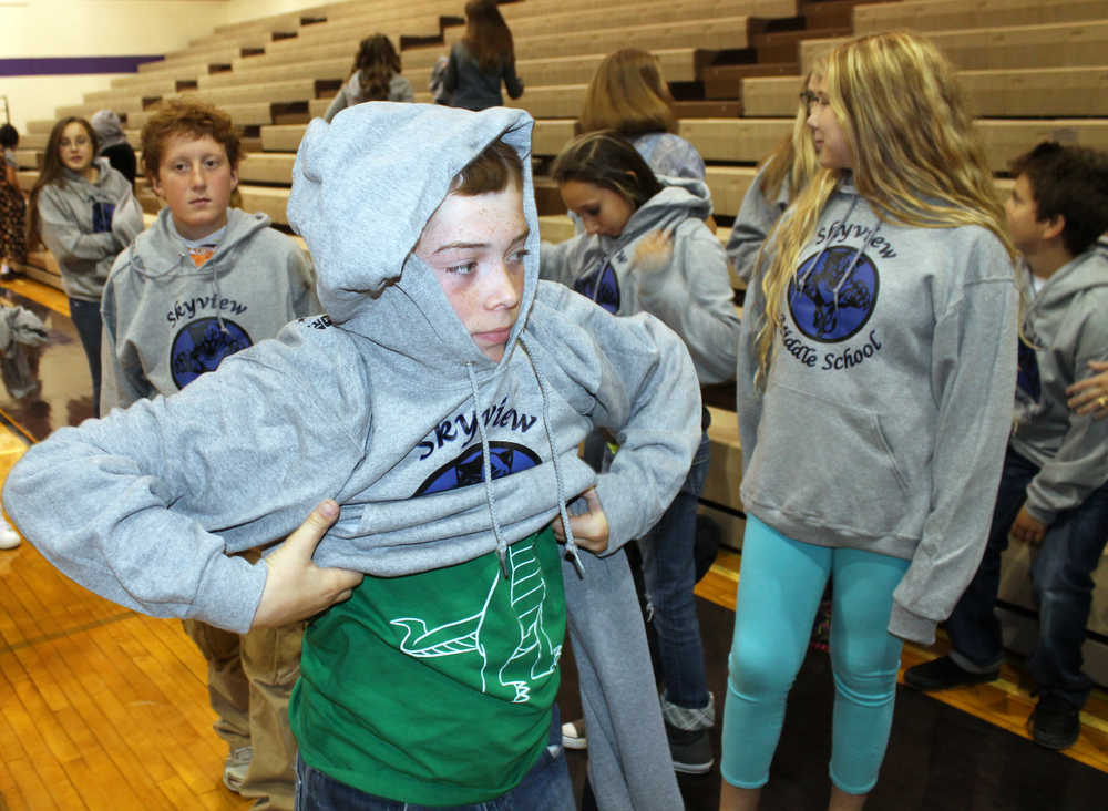
[[[593,74],[581,105],[581,132],[615,130],[632,137],[677,132],[661,61],[637,48],[609,53]]]

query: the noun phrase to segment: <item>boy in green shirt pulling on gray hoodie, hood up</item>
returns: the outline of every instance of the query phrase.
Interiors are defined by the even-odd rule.
[[[384,102],[312,122],[289,222],[330,317],[179,394],[58,431],[6,485],[17,524],[74,579],[239,632],[336,595],[309,606],[281,586],[291,538],[254,565],[227,553],[338,502],[315,563],[367,576],[305,636],[289,714],[307,808],[346,791],[572,808],[548,752],[566,608],[601,807],[680,804],[634,587],[611,553],[685,478],[696,374],[660,321],[538,281],[532,125]],[[597,425],[623,448],[601,475],[576,454]],[[575,530],[608,556],[578,550]]]

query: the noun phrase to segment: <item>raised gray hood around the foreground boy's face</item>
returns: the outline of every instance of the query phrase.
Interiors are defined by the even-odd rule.
[[[494,368],[412,249],[454,176],[502,138],[523,162],[523,207],[531,228],[523,297],[504,363],[527,319],[538,279],[530,161],[533,123],[519,110],[473,113],[390,102],[348,107],[330,124],[312,121],[293,168],[288,222],[308,244],[319,300],[331,320],[393,350],[398,363],[454,376],[464,374],[462,365],[485,373]],[[428,154],[437,158],[429,162],[423,157]],[[367,188],[375,189],[376,198],[367,199]]]

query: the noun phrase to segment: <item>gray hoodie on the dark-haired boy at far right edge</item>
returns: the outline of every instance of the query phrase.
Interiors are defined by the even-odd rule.
[[[1024,274],[1026,275],[1026,268]],[[1108,481],[1108,420],[1075,414],[1066,387],[1108,360],[1108,250],[1092,248],[1059,268],[1024,315],[1009,443],[1040,470],[1027,485],[1027,512],[1046,524]]]

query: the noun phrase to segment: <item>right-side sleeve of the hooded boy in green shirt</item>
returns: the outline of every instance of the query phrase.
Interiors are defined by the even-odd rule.
[[[608,552],[642,536],[677,495],[700,444],[700,389],[685,343],[657,318],[617,318],[568,288],[550,305],[593,336],[601,352],[598,428],[619,443],[596,480],[608,520]]]

